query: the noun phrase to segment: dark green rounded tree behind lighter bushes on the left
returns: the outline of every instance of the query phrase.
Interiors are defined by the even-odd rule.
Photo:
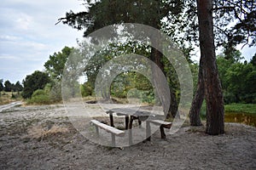
[[[32,75],[26,76],[23,80],[23,92],[22,97],[27,99],[30,98],[34,91],[43,89],[47,83],[50,82],[49,76],[45,72],[34,71]]]

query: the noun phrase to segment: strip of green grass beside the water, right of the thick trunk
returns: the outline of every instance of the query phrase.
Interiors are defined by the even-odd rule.
[[[224,105],[225,112],[242,112],[256,114],[256,104],[230,104]]]

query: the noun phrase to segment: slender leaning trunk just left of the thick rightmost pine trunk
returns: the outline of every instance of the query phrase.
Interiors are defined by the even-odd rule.
[[[205,96],[205,86],[203,81],[202,73],[202,58],[200,59],[199,71],[198,71],[198,82],[195,92],[195,96],[189,111],[189,121],[191,126],[201,126],[200,110],[201,105]]]

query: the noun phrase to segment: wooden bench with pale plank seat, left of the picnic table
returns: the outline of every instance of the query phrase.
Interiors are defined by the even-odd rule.
[[[112,146],[115,146],[115,136],[124,136],[125,132],[122,130],[119,130],[115,127],[110,127],[107,124],[104,124],[102,122],[98,122],[96,120],[90,120],[90,122],[92,122],[95,127],[96,127],[96,135],[97,137],[100,136],[99,134],[99,127],[104,129],[105,131],[107,131],[108,133],[111,133],[111,138],[112,138]]]

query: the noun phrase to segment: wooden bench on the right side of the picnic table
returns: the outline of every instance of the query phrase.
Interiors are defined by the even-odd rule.
[[[150,134],[151,134],[150,123],[153,123],[155,125],[160,125],[161,139],[166,139],[166,133],[165,133],[164,128],[170,129],[172,127],[172,122],[165,122],[162,120],[147,120],[146,121],[146,136],[147,136],[148,141],[151,139],[150,138]]]

